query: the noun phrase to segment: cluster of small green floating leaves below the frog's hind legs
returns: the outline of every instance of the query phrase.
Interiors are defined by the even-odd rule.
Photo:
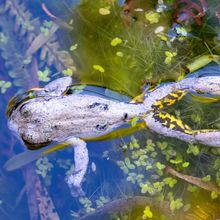
[[[204,194],[204,192],[201,192],[201,188],[208,190],[210,191],[210,199],[217,199],[220,194],[219,180],[215,177],[218,171],[216,173],[207,173],[207,170],[203,170],[202,177],[186,174],[195,173],[195,170],[193,171],[193,167],[196,167],[193,165],[195,159],[192,158],[198,157],[198,155],[201,156],[201,147],[199,147],[199,153],[196,151],[195,155],[189,156],[183,153],[181,148],[174,150],[168,142],[154,142],[152,139],[148,139],[146,145],[143,146],[139,144],[136,138],[132,137],[129,143],[121,147],[121,151],[126,156],[124,160],[117,161],[117,164],[127,176],[127,181],[138,185],[141,194],[156,196],[158,201],[168,202],[172,212],[182,209],[186,213],[192,213],[190,207],[195,204],[185,203],[184,198],[186,195],[181,197],[183,193],[188,195],[187,191],[195,193],[196,196],[198,191]],[[111,160],[116,157],[114,150],[110,150],[108,153],[104,152],[104,157],[106,156]],[[187,158],[187,161],[184,158]],[[218,162],[217,158],[215,160],[217,169],[219,169]],[[204,172],[207,174],[204,175]],[[151,177],[150,179],[149,176]],[[185,185],[180,179],[186,181],[185,184],[188,186],[187,191],[179,192],[180,195],[178,197],[178,193],[175,191],[181,185]],[[175,215],[178,215],[177,213]]]

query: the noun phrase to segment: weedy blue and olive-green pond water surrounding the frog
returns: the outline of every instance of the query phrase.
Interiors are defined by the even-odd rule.
[[[81,0],[64,10],[65,19],[49,3],[38,4],[43,16],[28,5],[19,0],[0,2],[2,114],[14,93],[63,75],[133,98],[145,84],[178,81],[211,61],[203,55],[215,58],[220,52],[218,1]],[[190,65],[197,57],[202,58],[199,66]],[[219,73],[219,60],[214,61],[204,70],[206,74]],[[83,89],[79,87],[78,92]],[[194,130],[219,129],[220,104],[210,100],[189,94],[167,111]],[[1,157],[6,161],[24,149],[9,135],[5,118],[2,122]],[[131,124],[137,122],[134,119]],[[83,182],[86,195],[77,199],[64,181],[75,168],[72,149],[21,168],[20,176],[16,173],[23,179],[18,189],[9,184],[16,178],[7,177],[1,169],[2,219],[24,219],[27,210],[19,211],[23,200],[29,209],[27,219],[220,216],[217,148],[186,144],[145,129],[131,137],[95,142],[89,152],[92,162]],[[5,196],[4,191],[16,196]]]

